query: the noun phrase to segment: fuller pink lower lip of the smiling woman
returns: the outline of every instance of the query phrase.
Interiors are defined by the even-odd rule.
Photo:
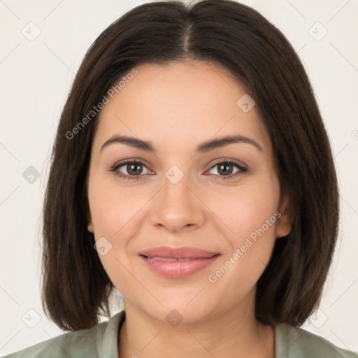
[[[189,261],[161,261],[139,255],[152,271],[168,278],[185,278],[192,275],[213,264],[219,256],[215,255]]]

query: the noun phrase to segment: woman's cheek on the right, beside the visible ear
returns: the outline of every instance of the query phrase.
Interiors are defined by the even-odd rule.
[[[230,286],[237,297],[256,284],[275,244],[279,196],[277,178],[267,177],[251,181],[250,187],[236,187],[225,203],[216,206],[220,219],[230,229],[226,236],[229,250],[208,278],[216,287]],[[232,285],[234,282],[240,285]]]

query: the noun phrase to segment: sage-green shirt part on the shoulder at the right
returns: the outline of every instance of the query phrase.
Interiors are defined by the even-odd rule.
[[[275,328],[276,357],[358,358],[358,354],[338,348],[327,339],[305,329],[278,324]]]

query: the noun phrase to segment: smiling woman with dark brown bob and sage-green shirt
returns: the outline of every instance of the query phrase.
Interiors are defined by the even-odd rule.
[[[299,329],[337,225],[280,31],[235,1],[138,6],[88,50],[57,129],[43,308],[70,332],[8,357],[357,357]],[[99,324],[114,287],[124,310]]]

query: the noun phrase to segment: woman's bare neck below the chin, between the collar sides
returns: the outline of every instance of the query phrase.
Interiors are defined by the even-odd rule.
[[[251,300],[252,301],[252,300]],[[241,305],[200,322],[175,327],[124,301],[119,357],[274,358],[273,328],[255,319],[255,306]]]

